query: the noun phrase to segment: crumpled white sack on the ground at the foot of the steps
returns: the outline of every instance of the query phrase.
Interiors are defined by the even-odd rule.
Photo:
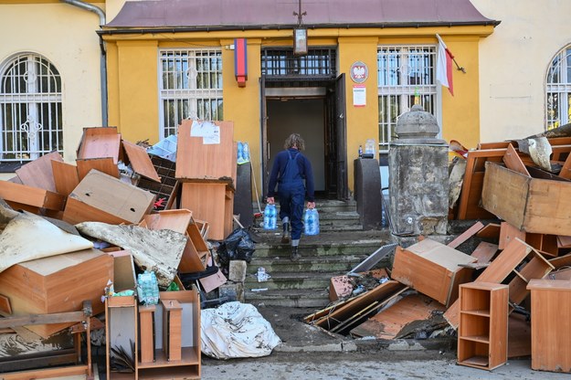
[[[267,356],[281,343],[270,322],[247,303],[205,309],[200,321],[202,353],[216,359]]]

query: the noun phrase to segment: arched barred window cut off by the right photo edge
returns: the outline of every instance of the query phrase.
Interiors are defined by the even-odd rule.
[[[551,61],[545,92],[547,129],[571,122],[571,46],[563,48]]]

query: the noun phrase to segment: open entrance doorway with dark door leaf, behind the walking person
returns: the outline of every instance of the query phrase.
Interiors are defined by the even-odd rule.
[[[268,191],[275,154],[297,132],[312,162],[316,195],[348,199],[344,76],[322,80],[315,87],[292,87],[284,81],[266,82],[263,77],[260,82],[263,194]]]

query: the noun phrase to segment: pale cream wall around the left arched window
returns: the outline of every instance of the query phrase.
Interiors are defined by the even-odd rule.
[[[95,33],[99,22],[92,12],[58,2],[0,4],[0,65],[18,53],[33,52],[48,58],[59,71],[68,162],[76,158],[83,127],[102,122],[100,45]]]

